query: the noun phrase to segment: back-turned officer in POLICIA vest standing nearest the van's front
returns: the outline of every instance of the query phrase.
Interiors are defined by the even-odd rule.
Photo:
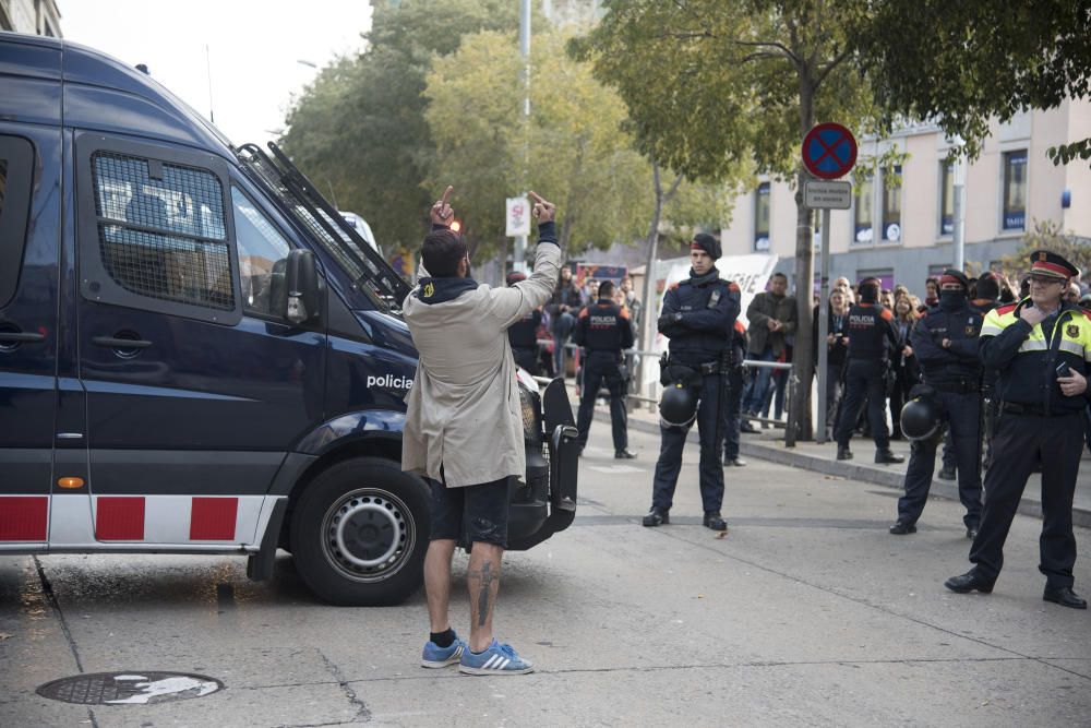
[[[613,302],[613,283],[603,281],[599,285],[599,300],[579,312],[572,339],[586,350],[583,359],[584,385],[579,397],[579,415],[576,429],[579,430],[579,450],[587,444],[591,429],[595,399],[603,382],[610,391],[610,427],[614,441],[614,457],[632,460],[628,451],[628,413],[625,410],[625,387],[628,379],[622,369],[622,351],[633,346],[633,325],[628,312]]]

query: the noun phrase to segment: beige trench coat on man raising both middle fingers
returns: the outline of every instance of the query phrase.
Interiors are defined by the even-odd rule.
[[[539,243],[533,273],[509,288],[482,284],[454,300],[403,303],[420,366],[406,397],[401,469],[448,488],[525,478],[523,415],[507,327],[546,303],[561,251]],[[421,276],[427,271],[421,268]]]

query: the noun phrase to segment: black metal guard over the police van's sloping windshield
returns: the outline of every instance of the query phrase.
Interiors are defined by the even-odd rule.
[[[269,150],[273,158],[253,144],[239,147],[239,162],[248,176],[310,234],[348,274],[352,287],[364,294],[376,309],[400,309],[409,295],[409,284],[337,214],[275,144],[269,143]]]

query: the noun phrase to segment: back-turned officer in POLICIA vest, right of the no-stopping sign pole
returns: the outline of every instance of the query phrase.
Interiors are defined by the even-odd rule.
[[[902,348],[902,343],[898,341],[894,314],[878,303],[880,288],[878,278],[864,278],[860,283],[860,302],[849,309],[844,399],[834,432],[839,461],[852,460],[849,440],[865,398],[872,438],[875,440],[875,462],[885,465],[906,461],[890,452],[890,431],[886,426],[888,345],[897,350]]]

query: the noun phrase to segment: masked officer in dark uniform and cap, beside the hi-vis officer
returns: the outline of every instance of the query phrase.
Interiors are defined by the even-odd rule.
[[[970,282],[961,271],[948,268],[939,278],[939,306],[931,309],[913,330],[912,347],[924,370],[924,383],[935,390],[955,443],[958,494],[966,508],[967,538],[978,535],[981,521],[981,359],[978,334],[983,317],[970,306]],[[895,413],[895,417],[898,413]],[[906,470],[906,494],[898,500],[896,536],[912,534],[924,511],[936,467],[936,440],[914,440]]]

